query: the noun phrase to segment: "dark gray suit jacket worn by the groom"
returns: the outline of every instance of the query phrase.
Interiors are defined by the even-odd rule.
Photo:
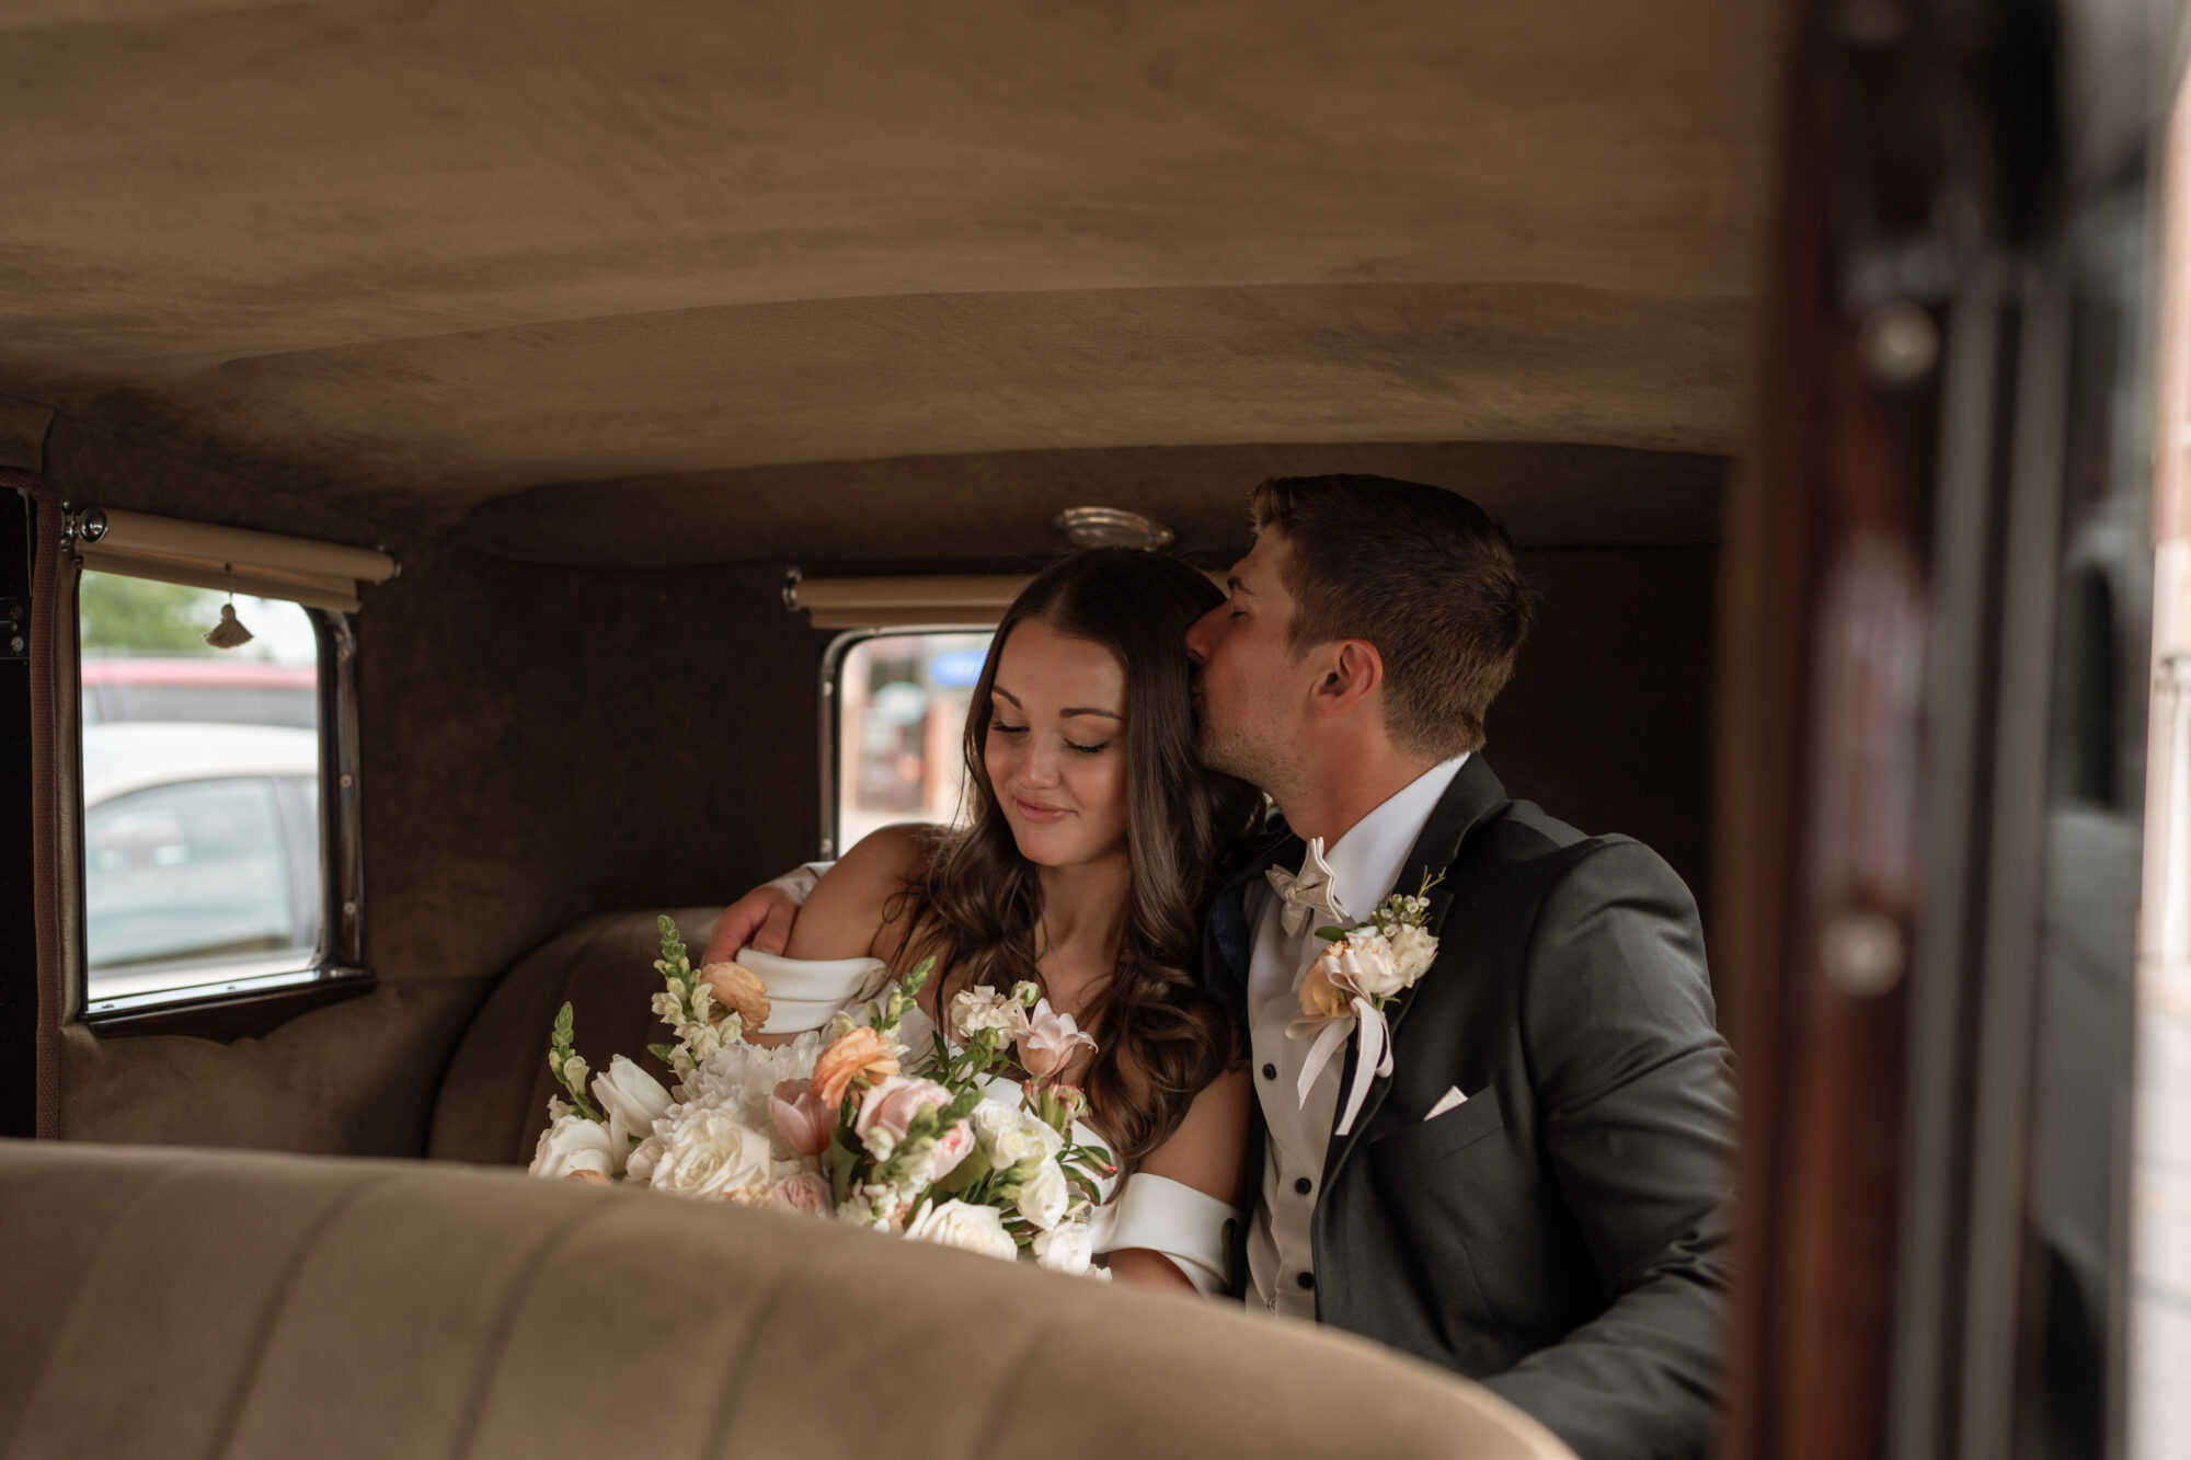
[[[1264,848],[1212,901],[1203,978],[1242,1019],[1242,892],[1299,855],[1297,837]],[[1696,901],[1648,846],[1507,800],[1483,756],[1398,888],[1426,868],[1446,868],[1437,962],[1387,1011],[1391,1079],[1332,1138],[1317,1315],[1481,1379],[1584,1460],[1700,1456],[1727,1346],[1735,1094]],[[1455,1085],[1468,1100],[1424,1120]],[[1262,1153],[1258,1107],[1255,1190]]]

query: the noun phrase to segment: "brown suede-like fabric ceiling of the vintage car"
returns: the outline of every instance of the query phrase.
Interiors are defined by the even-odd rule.
[[[13,0],[0,452],[543,561],[1229,533],[1288,469],[1696,541],[1777,7]]]

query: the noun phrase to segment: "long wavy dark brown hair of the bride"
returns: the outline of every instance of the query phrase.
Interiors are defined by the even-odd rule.
[[[1251,785],[1203,769],[1194,756],[1185,634],[1223,596],[1185,563],[1137,548],[1091,548],[1039,572],[1003,612],[966,710],[971,815],[936,837],[905,905],[892,910],[907,929],[901,962],[933,954],[951,991],[1019,980],[1043,986],[1034,965],[1041,881],[1019,853],[984,758],[990,686],[1006,638],[1030,618],[1115,653],[1126,666],[1133,883],[1117,967],[1082,1013],[1098,1035],[1089,1103],[1124,1162],[1163,1144],[1194,1096],[1238,1059],[1231,1019],[1188,973],[1218,851],[1262,805]]]

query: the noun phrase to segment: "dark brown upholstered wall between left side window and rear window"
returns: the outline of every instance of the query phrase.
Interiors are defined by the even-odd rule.
[[[90,445],[66,484],[83,498],[131,502],[151,463],[164,511],[386,541],[405,572],[357,623],[381,986],[232,1043],[70,1026],[64,1136],[421,1153],[458,1033],[524,951],[589,912],[721,901],[811,855],[826,636],[784,614],[778,566],[508,563]]]

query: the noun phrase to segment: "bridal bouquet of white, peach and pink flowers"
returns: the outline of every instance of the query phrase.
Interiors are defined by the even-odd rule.
[[[695,971],[677,927],[659,927],[653,1008],[675,1041],[651,1050],[677,1083],[622,1054],[589,1083],[563,1004],[548,1046],[563,1094],[548,1100],[532,1175],[769,1206],[1109,1276],[1091,1267],[1089,1217],[1111,1155],[1076,1140],[1087,1098],[1056,1081],[1096,1041],[1034,984],[955,995],[953,1039],[938,1030],[909,1072],[901,1026],[933,960],[870,1002],[865,1022],[837,1013],[826,1033],[762,1048],[747,1041],[767,1026],[762,980],[736,962]],[[1025,1085],[1006,1074],[1014,1052]]]

